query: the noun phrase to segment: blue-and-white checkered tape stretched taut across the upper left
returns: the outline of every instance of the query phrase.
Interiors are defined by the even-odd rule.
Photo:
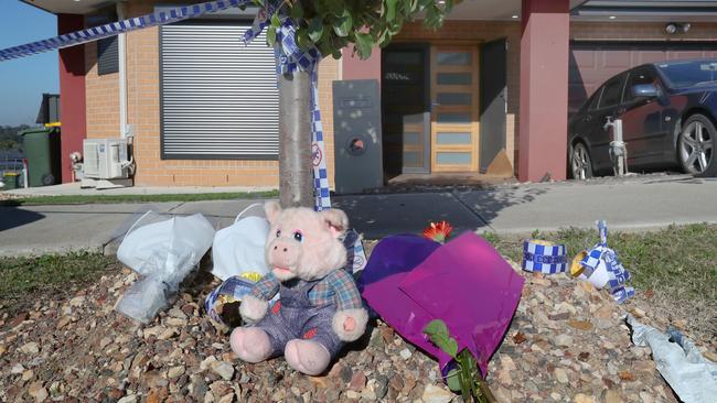
[[[0,62],[50,52],[56,48],[81,45],[83,43],[101,40],[103,37],[114,36],[129,31],[169,24],[211,12],[226,10],[232,7],[248,6],[252,0],[217,0],[200,4],[178,7],[176,9],[169,11],[159,11],[152,14],[110,22],[108,24],[66,33],[47,40],[0,50]]]

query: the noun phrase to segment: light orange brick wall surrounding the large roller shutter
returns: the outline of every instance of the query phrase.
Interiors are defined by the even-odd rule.
[[[150,13],[147,1],[131,1],[129,17]],[[119,135],[118,74],[97,76],[96,45],[86,45],[87,131],[89,138]],[[333,185],[333,116],[331,81],[339,64],[331,57],[319,69],[319,101]],[[127,116],[135,131],[135,184],[140,186],[268,186],[278,187],[278,162],[257,160],[161,160],[159,94],[159,29],[127,34]]]

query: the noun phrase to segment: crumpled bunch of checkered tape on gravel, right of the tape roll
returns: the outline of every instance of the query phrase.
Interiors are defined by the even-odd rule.
[[[612,297],[622,303],[635,294],[633,287],[624,285],[630,280],[630,272],[620,263],[618,252],[608,248],[608,225],[604,220],[598,221],[598,232],[600,242],[574,259],[570,273],[587,279],[598,288],[608,286]]]

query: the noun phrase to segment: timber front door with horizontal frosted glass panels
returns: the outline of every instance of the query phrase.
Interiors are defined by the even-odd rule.
[[[431,172],[478,171],[478,48],[432,46]]]

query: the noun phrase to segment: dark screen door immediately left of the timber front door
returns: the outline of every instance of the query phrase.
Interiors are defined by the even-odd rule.
[[[407,173],[428,173],[428,46],[388,46],[383,52],[382,64],[384,171],[388,177]]]

